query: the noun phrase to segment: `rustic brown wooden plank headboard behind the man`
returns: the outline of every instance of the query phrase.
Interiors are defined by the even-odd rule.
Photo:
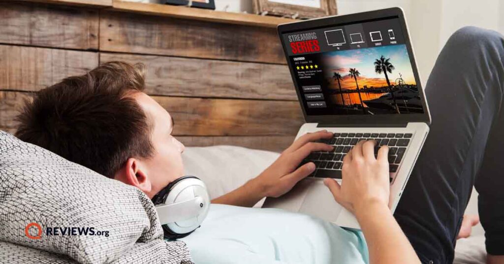
[[[207,10],[192,19],[178,16],[183,7],[68,2],[0,2],[0,130],[15,132],[32,92],[122,60],[146,64],[146,92],[170,112],[187,146],[280,151],[292,142],[302,113],[274,27],[282,19],[243,22]],[[131,11],[138,8],[142,14]]]

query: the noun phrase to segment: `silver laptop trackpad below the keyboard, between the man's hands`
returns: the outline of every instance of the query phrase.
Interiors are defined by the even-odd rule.
[[[322,181],[310,181],[299,212],[336,222],[342,207],[334,200],[333,194]]]

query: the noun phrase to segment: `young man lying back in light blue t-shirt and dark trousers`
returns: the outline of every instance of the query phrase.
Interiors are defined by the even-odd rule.
[[[498,189],[504,164],[493,159],[504,149],[503,43],[495,32],[464,28],[440,53],[425,89],[430,134],[394,216],[387,207],[386,146],[374,158],[374,142],[359,142],[343,162],[344,184],[325,181],[336,201],[356,215],[367,245],[359,232],[301,214],[212,206],[205,224],[184,239],[193,257],[357,263],[369,254],[371,263],[451,263],[475,183],[488,263],[504,263],[504,195]],[[183,175],[184,146],[170,134],[169,113],[143,89],[140,65],[102,64],[40,91],[19,116],[16,135],[152,198]],[[302,136],[258,177],[212,202],[250,207],[288,192],[314,168],[297,168],[305,156],[332,149],[317,143],[329,137],[327,131]],[[240,258],[225,258],[235,251]]]

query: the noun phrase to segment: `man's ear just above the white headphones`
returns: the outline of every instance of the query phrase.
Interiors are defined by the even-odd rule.
[[[152,190],[152,184],[142,162],[136,158],[129,158],[115,173],[114,179],[140,189],[145,194]]]

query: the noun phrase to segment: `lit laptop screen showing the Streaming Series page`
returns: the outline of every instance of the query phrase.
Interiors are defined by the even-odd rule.
[[[423,113],[399,18],[282,37],[307,115]]]

